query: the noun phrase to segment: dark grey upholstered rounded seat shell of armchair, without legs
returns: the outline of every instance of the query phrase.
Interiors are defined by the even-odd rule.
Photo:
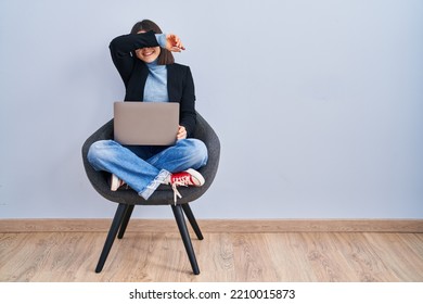
[[[207,165],[200,168],[198,172],[204,176],[205,183],[203,187],[181,187],[179,192],[182,194],[182,199],[178,200],[178,204],[184,204],[192,202],[203,195],[210,187],[215,179],[217,169],[219,166],[220,159],[220,141],[215,130],[201,116],[196,114],[196,127],[194,130],[194,138],[202,140],[208,150],[208,162]],[[103,198],[125,204],[134,205],[167,205],[174,203],[174,193],[170,187],[161,186],[153,195],[146,202],[143,198],[138,195],[136,191],[123,190],[123,191],[111,191],[107,183],[106,173],[95,172],[90,163],[88,162],[87,154],[91,144],[98,140],[113,139],[113,119],[108,121],[102,127],[100,127],[94,134],[92,134],[82,144],[82,161],[87,173],[87,177],[91,182],[92,187]]]

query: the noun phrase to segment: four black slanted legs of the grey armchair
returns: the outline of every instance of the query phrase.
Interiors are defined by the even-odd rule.
[[[101,252],[99,263],[95,267],[95,273],[99,274],[102,271],[103,266],[107,259],[108,253],[112,249],[113,242],[116,239],[116,236],[118,239],[124,238],[129,219],[132,215],[133,207],[134,205],[127,205],[123,203],[117,206],[115,216],[111,225],[111,229],[108,230],[107,238],[103,246],[103,251]],[[203,240],[203,235],[189,204],[171,205],[171,210],[174,212],[175,219],[177,221],[178,229],[183,241],[183,245],[185,246],[185,251],[191,263],[192,271],[194,273],[194,275],[198,275],[200,268],[196,262],[194,249],[192,246],[190,233],[187,228],[184,214],[187,215],[187,218],[189,219],[198,240]]]

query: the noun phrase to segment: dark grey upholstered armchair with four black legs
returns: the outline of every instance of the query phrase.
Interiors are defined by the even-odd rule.
[[[174,191],[169,186],[159,186],[157,190],[150,197],[149,201],[138,195],[133,190],[118,190],[111,191],[107,178],[108,173],[95,172],[87,160],[87,153],[90,145],[103,139],[113,139],[113,119],[107,122],[104,126],[98,129],[91,135],[82,145],[82,160],[84,166],[87,173],[87,177],[90,180],[92,187],[106,200],[116,202],[118,204],[117,211],[112,221],[111,229],[108,230],[107,238],[104,243],[103,251],[100,255],[99,263],[95,268],[95,273],[100,273],[103,269],[104,263],[112,249],[113,242],[116,239],[121,239],[125,235],[125,230],[128,226],[133,207],[136,205],[170,205],[177,221],[183,244],[187,250],[188,257],[190,259],[192,270],[195,275],[200,274],[200,268],[195,258],[195,253],[192,248],[191,238],[184,220],[184,215],[189,219],[198,240],[203,239],[203,235],[195,220],[195,217],[189,205],[190,202],[198,199],[210,187],[215,179],[220,157],[220,141],[210,125],[197,113],[197,123],[194,131],[194,138],[202,140],[208,150],[207,165],[200,168],[198,172],[204,176],[205,183],[202,187],[181,187],[179,192],[182,194],[182,199],[178,199],[177,204],[174,203]],[[184,214],[184,215],[183,215]]]

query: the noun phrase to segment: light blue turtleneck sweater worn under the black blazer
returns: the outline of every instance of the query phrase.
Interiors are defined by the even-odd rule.
[[[156,35],[157,42],[161,47],[166,47],[166,35]],[[167,93],[167,67],[158,65],[157,60],[146,63],[149,67],[149,76],[145,81],[144,101],[168,102]]]

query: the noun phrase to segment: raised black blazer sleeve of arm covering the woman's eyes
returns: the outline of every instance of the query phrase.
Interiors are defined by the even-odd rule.
[[[118,36],[111,41],[108,49],[111,50],[112,61],[119,72],[125,87],[128,85],[136,64],[137,58],[133,52],[137,49],[148,47],[158,47],[157,39],[152,30]]]

